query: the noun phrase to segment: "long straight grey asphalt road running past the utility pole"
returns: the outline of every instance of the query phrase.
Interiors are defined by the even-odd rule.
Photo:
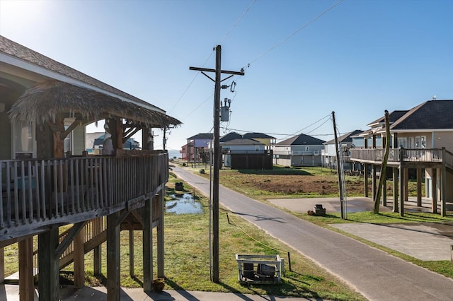
[[[208,180],[180,167],[173,167],[173,171],[209,195]],[[219,202],[343,279],[369,300],[453,300],[453,281],[445,276],[222,186]]]

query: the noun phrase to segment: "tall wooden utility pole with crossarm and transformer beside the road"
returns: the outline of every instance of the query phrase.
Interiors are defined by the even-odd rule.
[[[221,69],[221,54],[222,47],[217,45],[215,47],[215,69],[189,67],[189,70],[201,71],[204,76],[205,72],[215,72],[214,81],[214,156],[213,156],[213,177],[212,177],[212,273],[211,281],[214,283],[219,282],[219,170],[222,163],[222,154],[220,153],[220,89],[223,88],[220,83],[234,75],[243,76],[241,71],[224,71]],[[231,74],[230,76],[221,79],[222,73]],[[225,87],[227,88],[227,87]]]

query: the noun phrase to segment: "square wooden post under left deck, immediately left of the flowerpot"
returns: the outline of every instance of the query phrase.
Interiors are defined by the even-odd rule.
[[[143,216],[143,290],[152,291],[153,283],[153,199],[144,204]]]

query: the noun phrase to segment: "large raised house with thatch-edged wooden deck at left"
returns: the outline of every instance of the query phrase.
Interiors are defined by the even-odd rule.
[[[86,156],[85,126],[99,120],[103,156]],[[178,124],[159,107],[0,36],[0,281],[4,247],[18,243],[21,300],[33,300],[35,273],[44,280],[40,300],[59,300],[59,269],[74,263],[74,286],[82,287],[84,254],[93,250],[100,273],[106,242],[108,300],[120,300],[120,230],[142,230],[143,286],[151,290],[154,227],[157,276],[164,276],[168,154],[147,151],[146,142],[152,128]],[[139,130],[147,150],[123,150]],[[60,233],[63,225],[69,230]]]

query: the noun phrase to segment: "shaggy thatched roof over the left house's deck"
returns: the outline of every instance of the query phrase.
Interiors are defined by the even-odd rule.
[[[128,126],[139,129],[168,128],[180,124],[178,119],[169,117],[163,111],[151,110],[134,102],[62,81],[46,81],[29,88],[13,104],[8,114],[11,122],[49,124],[54,136],[55,158],[62,158],[64,138],[79,124],[100,119],[125,119]],[[64,118],[68,117],[76,118],[76,122],[65,130]]]

